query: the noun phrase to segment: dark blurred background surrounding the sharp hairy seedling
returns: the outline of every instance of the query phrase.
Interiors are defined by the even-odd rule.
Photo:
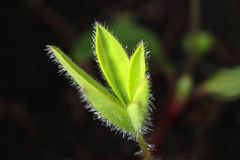
[[[91,49],[96,20],[129,52],[148,44],[155,157],[240,159],[240,1],[1,0],[0,13],[1,160],[139,159],[134,142],[94,120],[44,51],[61,47],[102,81]],[[221,75],[230,79],[205,85],[221,68],[235,68]],[[209,89],[215,84],[226,87]]]

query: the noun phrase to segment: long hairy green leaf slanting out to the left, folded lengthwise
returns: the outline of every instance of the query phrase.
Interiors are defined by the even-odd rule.
[[[123,131],[135,133],[127,110],[117,98],[73,63],[59,48],[55,46],[48,48],[67,74],[81,87],[96,113]]]

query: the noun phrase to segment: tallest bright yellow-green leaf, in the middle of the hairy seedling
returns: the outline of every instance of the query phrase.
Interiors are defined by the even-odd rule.
[[[116,96],[128,104],[127,76],[129,58],[120,43],[96,23],[96,55],[100,68]]]

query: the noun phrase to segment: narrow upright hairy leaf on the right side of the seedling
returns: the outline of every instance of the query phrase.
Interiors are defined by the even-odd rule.
[[[146,78],[143,42],[139,44],[130,61],[128,94],[131,101],[128,106],[129,117],[136,133],[141,133],[149,107],[149,87]]]

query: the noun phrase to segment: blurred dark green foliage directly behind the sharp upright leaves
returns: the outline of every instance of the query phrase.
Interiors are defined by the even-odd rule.
[[[153,32],[135,23],[129,15],[119,16],[110,23],[109,28],[114,31],[114,35],[122,42],[123,47],[127,44],[126,50],[128,53],[137,47],[136,44],[140,39],[143,39],[146,43],[145,46],[151,51],[150,57],[160,59],[159,57],[162,53],[160,40]],[[92,53],[94,49],[89,45],[92,43],[91,30],[92,29],[89,29],[79,36],[74,44],[72,56],[78,62],[89,60],[93,56]]]

